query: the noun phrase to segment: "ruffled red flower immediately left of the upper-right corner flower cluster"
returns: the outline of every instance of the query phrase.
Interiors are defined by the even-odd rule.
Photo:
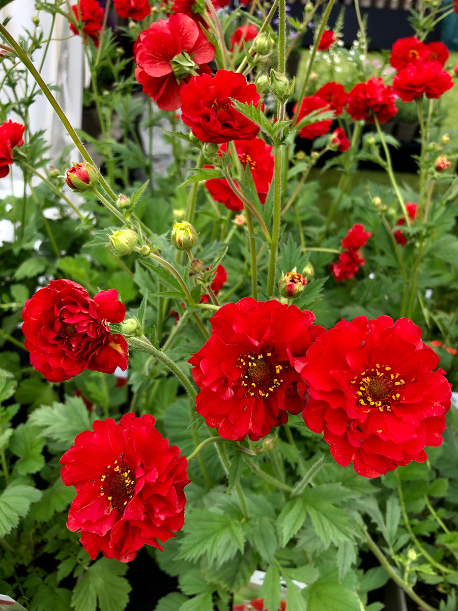
[[[353,87],[347,97],[347,112],[354,121],[374,124],[377,117],[379,123],[386,123],[398,112],[395,100],[391,87],[385,86],[383,79],[373,77]]]

